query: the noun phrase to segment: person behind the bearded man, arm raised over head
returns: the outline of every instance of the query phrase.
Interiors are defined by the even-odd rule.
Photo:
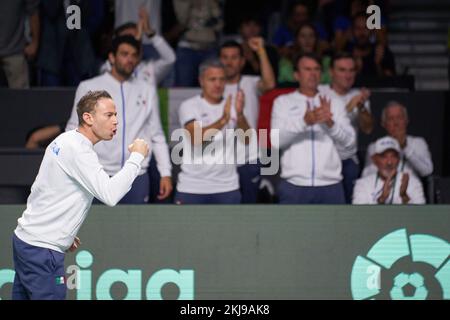
[[[133,36],[139,42],[142,41],[144,36],[150,40],[149,44],[158,53],[158,58],[141,60],[134,70],[134,76],[150,85],[158,86],[175,63],[175,52],[166,40],[150,27],[148,14],[145,10],[141,10],[138,24],[129,22],[116,29],[115,37],[125,35]],[[111,71],[111,63],[108,60],[101,66],[100,73],[107,71]]]

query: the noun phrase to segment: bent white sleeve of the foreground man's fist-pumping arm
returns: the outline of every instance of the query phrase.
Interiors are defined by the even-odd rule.
[[[131,189],[141,169],[143,155],[133,152],[123,168],[113,177],[103,170],[94,150],[71,150],[58,159],[61,168],[94,197],[115,206]]]

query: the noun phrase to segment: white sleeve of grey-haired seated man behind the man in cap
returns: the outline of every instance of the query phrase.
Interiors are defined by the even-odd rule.
[[[433,161],[428,145],[423,138],[415,138],[414,143],[407,143],[403,154],[408,164],[421,176],[425,177],[433,173]],[[408,141],[409,142],[409,141]]]

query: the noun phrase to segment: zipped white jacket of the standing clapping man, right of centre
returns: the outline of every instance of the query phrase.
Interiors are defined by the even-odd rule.
[[[282,151],[281,177],[297,186],[327,186],[340,182],[341,159],[337,146],[353,148],[356,133],[345,106],[331,100],[334,126],[308,126],[303,120],[311,105],[320,105],[319,94],[309,98],[296,90],[275,99],[271,120],[272,146]]]

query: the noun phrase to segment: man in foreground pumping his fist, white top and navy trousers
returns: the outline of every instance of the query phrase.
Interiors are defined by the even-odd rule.
[[[59,135],[45,150],[27,208],[13,235],[14,300],[62,300],[66,296],[64,256],[77,237],[94,197],[114,206],[130,190],[148,155],[137,139],[128,160],[110,177],[94,145],[117,132],[116,107],[106,91],[88,92],[77,105],[79,126]]]

